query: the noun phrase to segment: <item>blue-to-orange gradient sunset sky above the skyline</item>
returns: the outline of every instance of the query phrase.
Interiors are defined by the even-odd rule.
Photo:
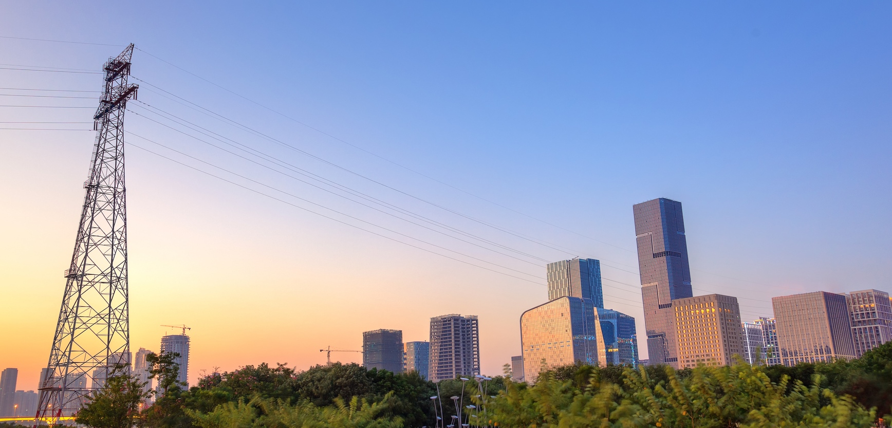
[[[131,349],[191,326],[193,383],[214,367],[324,364],[319,349],[359,350],[367,330],[427,340],[429,318],[450,313],[480,317],[483,372],[501,374],[521,313],[547,300],[545,263],[577,256],[602,260],[607,308],[643,335],[632,204],[657,197],[683,203],[695,294],[737,296],[745,319],[772,316],[772,296],[892,291],[888,2],[0,8],[0,62],[14,64],[0,67],[101,70],[139,48]],[[0,82],[4,95],[102,86],[21,70]],[[89,108],[0,107],[0,121],[89,122],[96,95],[68,95],[87,98],[0,104]],[[0,129],[0,368],[31,390],[95,133],[0,128],[84,129]],[[223,141],[293,170],[211,145],[238,152]],[[298,168],[499,246],[371,210],[293,179],[309,181]]]

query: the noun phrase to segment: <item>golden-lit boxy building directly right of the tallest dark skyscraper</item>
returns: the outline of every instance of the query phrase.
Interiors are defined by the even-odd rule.
[[[673,300],[672,307],[679,367],[731,366],[744,355],[736,297],[707,294]]]

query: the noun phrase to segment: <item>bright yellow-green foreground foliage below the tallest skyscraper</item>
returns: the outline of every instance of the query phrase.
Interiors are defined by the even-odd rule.
[[[700,366],[690,371],[659,367],[570,366],[543,372],[532,386],[508,383],[486,407],[486,417],[503,426],[561,427],[869,427],[874,413],[854,399],[789,377],[772,383],[764,368]],[[603,372],[603,373],[602,373]],[[582,377],[588,382],[581,386]],[[789,390],[789,391],[788,391]]]

